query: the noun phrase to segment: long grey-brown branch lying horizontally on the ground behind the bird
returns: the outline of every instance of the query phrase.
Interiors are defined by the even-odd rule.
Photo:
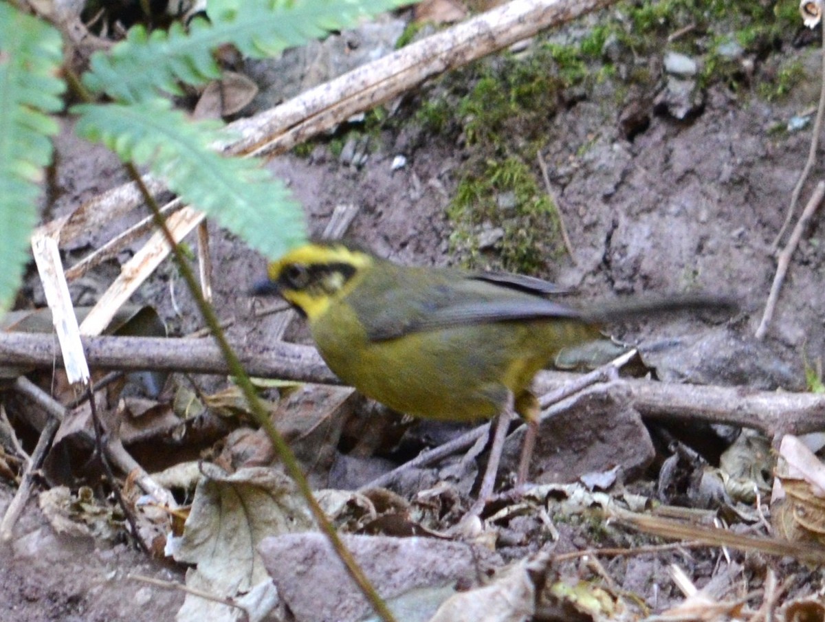
[[[229,370],[210,339],[82,337],[89,365],[106,370],[163,370],[225,375]],[[312,346],[279,342],[264,353],[238,346],[250,375],[317,384],[340,384]],[[52,335],[0,332],[0,360],[6,365],[51,370],[61,366]],[[541,372],[537,393],[549,393],[578,375]],[[751,427],[768,436],[825,430],[825,395],[775,393],[747,387],[623,380],[634,406],[648,419],[705,421]]]

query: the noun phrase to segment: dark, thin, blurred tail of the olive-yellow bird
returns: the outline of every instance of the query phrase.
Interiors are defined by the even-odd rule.
[[[587,305],[581,312],[585,322],[601,324],[645,315],[707,310],[735,314],[739,310],[739,304],[736,299],[727,296],[676,294],[602,300]]]

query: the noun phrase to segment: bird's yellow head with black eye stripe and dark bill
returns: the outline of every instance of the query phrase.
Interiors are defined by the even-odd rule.
[[[279,295],[304,317],[318,318],[332,300],[346,295],[375,257],[340,242],[314,242],[295,248],[266,269],[252,295]]]

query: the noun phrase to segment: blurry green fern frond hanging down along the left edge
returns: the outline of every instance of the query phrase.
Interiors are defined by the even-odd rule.
[[[37,221],[37,185],[51,162],[50,135],[57,122],[47,113],[63,107],[59,32],[0,3],[0,312],[20,285],[31,229]]]

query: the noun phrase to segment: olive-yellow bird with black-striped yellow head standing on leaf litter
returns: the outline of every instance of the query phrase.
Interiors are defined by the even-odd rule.
[[[318,352],[345,384],[413,417],[499,417],[500,445],[512,413],[535,433],[534,376],[564,348],[600,338],[602,323],[733,306],[698,294],[570,304],[559,301],[561,292],[531,276],[404,266],[331,241],[287,252],[252,290],[281,296],[306,319]],[[493,492],[496,451],[493,441],[479,501]]]

